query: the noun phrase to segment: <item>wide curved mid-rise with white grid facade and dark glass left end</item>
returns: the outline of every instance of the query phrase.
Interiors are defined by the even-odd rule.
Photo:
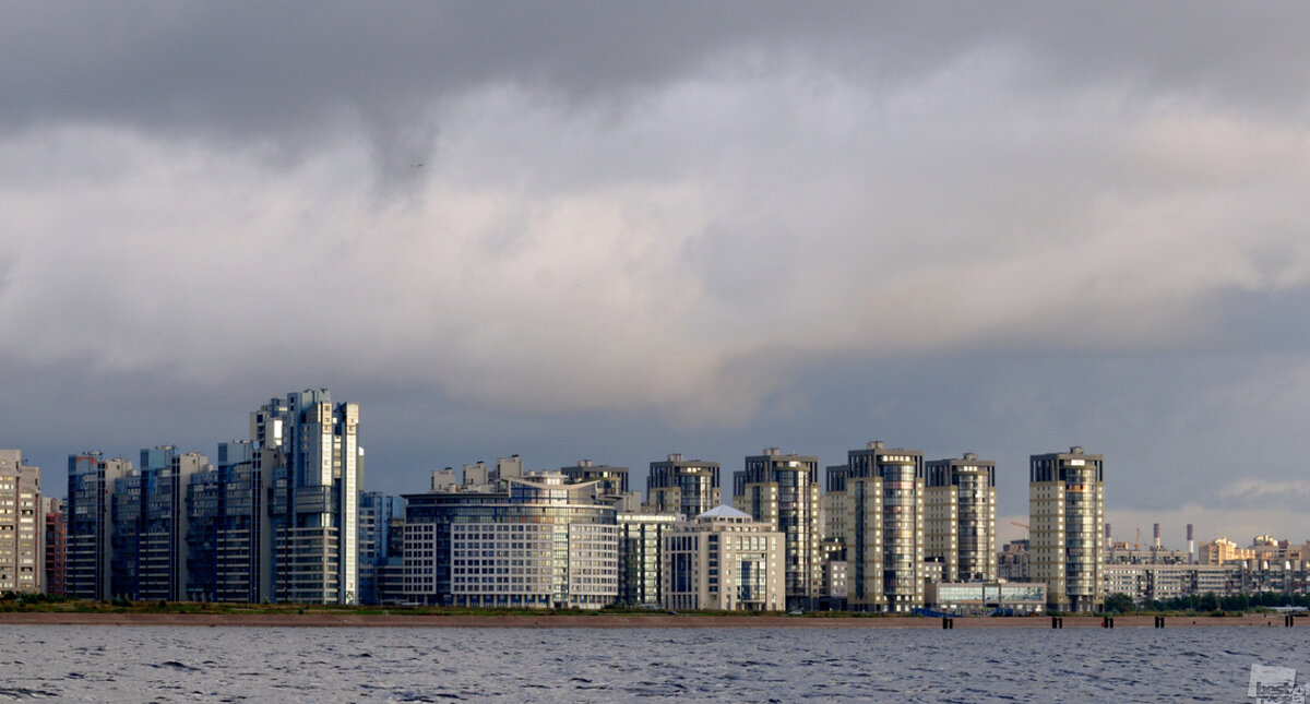
[[[407,602],[600,608],[618,598],[618,527],[595,483],[561,472],[508,491],[405,495]]]

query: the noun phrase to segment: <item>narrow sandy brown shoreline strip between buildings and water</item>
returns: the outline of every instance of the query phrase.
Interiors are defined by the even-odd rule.
[[[1100,628],[1099,616],[1062,616],[1065,628]],[[1154,616],[1115,616],[1115,628],[1153,628]],[[1047,616],[960,616],[954,628],[1051,628]],[[0,625],[183,625],[250,628],[942,628],[927,616],[722,616],[672,614],[354,615],[0,612]],[[1281,615],[1166,616],[1166,628],[1284,627]],[[1307,624],[1310,627],[1310,624]]]

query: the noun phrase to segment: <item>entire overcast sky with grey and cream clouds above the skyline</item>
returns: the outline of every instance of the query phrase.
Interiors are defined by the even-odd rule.
[[[30,3],[0,446],[362,406],[523,454],[1106,455],[1116,538],[1310,538],[1305,3]]]

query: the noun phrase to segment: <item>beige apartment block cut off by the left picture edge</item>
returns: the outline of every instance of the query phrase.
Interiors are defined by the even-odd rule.
[[[0,591],[39,593],[46,582],[41,468],[0,450]]]

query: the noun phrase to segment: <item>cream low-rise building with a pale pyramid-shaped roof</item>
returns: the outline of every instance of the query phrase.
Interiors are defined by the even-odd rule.
[[[718,506],[664,537],[664,606],[690,611],[779,611],[785,534]]]

